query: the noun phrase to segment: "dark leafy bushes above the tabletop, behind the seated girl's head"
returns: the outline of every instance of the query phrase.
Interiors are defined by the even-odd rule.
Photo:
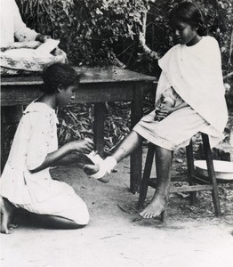
[[[138,29],[147,12],[147,43],[164,54],[173,37],[167,14],[182,0],[16,0],[29,27],[60,38],[60,47],[76,65],[116,64],[147,74],[157,64],[141,53]],[[232,71],[232,0],[197,0],[204,13],[208,33],[221,45],[224,73]]]

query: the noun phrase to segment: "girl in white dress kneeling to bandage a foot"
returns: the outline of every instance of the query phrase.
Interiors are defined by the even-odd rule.
[[[67,64],[52,64],[43,74],[44,94],[24,110],[1,178],[1,232],[11,233],[15,208],[38,214],[52,228],[76,229],[89,222],[84,201],[49,173],[51,166],[76,163],[93,149],[88,139],[58,149],[55,109],[75,99],[79,78]]]

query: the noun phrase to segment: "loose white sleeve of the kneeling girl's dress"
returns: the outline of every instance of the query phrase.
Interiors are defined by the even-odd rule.
[[[28,142],[27,166],[34,170],[41,166],[49,150],[50,119],[40,112],[30,114],[32,131]]]

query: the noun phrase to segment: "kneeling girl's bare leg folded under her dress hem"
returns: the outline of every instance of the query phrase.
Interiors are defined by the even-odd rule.
[[[78,224],[64,217],[54,216],[49,214],[33,214],[37,223],[43,223],[44,226],[52,229],[78,229],[85,224]]]

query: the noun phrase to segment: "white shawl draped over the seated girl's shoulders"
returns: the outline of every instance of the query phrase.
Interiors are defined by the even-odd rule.
[[[157,99],[172,85],[183,101],[221,134],[227,124],[228,109],[217,41],[211,36],[203,36],[193,46],[177,44],[158,64],[163,71],[157,86]]]

